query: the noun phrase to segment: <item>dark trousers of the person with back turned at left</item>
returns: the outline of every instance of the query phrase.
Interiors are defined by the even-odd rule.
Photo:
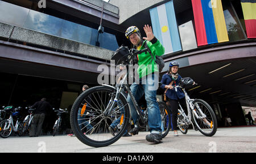
[[[42,131],[42,125],[44,118],[46,117],[45,113],[35,114],[30,127],[30,136],[39,136]]]

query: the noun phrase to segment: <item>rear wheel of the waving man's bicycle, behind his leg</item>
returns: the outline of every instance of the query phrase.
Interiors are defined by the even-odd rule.
[[[166,135],[168,134],[171,128],[171,111],[166,105],[166,103],[163,101],[158,102],[158,105],[159,105],[160,115],[162,119],[162,124],[161,124],[162,137],[164,138],[166,137]]]

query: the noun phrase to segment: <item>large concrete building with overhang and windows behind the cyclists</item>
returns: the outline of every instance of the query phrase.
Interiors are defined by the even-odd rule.
[[[98,85],[98,66],[110,66],[119,46],[131,48],[126,28],[136,25],[145,36],[143,25],[154,26],[150,12],[166,3],[174,6],[181,49],[162,56],[160,75],[178,61],[179,74],[199,84],[188,93],[209,102],[219,126],[225,108],[233,126],[245,125],[241,106],[256,106],[256,42],[240,0],[212,2],[213,8],[221,3],[228,40],[204,45],[193,0],[0,1],[0,105],[25,107],[46,97],[55,108],[71,109],[82,85]]]

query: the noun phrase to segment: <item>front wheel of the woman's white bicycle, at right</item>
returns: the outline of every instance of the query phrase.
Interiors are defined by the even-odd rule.
[[[198,130],[205,136],[213,136],[217,131],[217,118],[212,107],[210,107],[207,102],[200,99],[193,101],[193,105],[193,111],[199,116],[199,118],[197,118],[192,112],[193,120]]]

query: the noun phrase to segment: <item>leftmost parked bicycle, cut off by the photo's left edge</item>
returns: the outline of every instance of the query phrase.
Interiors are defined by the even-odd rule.
[[[19,121],[19,110],[22,109],[21,107],[16,107],[14,109],[13,106],[5,107],[6,113],[10,113],[9,119],[2,120],[0,123],[0,136],[3,138],[7,138],[11,135],[11,133],[18,132],[19,136],[22,136],[22,123]],[[15,126],[14,126],[14,119],[13,117],[17,117]]]

